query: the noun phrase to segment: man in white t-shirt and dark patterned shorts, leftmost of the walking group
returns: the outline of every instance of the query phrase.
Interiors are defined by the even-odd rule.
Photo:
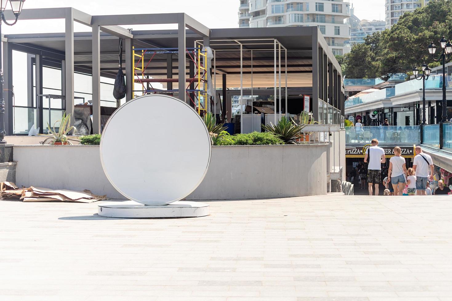
[[[367,148],[364,162],[367,166],[367,183],[369,183],[369,195],[372,195],[372,184],[375,184],[375,195],[378,195],[378,185],[381,183],[381,163],[386,163],[385,151],[378,147],[378,140],[372,139],[372,146]]]

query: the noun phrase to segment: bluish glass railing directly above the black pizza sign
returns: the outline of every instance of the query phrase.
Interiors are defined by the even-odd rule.
[[[390,143],[420,143],[419,125],[410,126],[354,126],[345,127],[346,143],[369,143],[372,139]]]

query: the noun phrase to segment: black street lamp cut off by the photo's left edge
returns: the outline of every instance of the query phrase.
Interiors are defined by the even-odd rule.
[[[14,16],[16,16],[16,20],[14,23],[8,23],[5,20],[5,9],[6,6],[9,4],[11,5],[11,9],[14,13]],[[19,14],[22,11],[22,7],[24,6],[25,0],[0,0],[0,37],[1,37],[1,23],[2,20],[7,25],[14,25],[17,22],[17,19],[19,19]],[[0,42],[0,54],[2,53],[2,43]],[[0,144],[6,144],[5,140],[5,98],[3,97],[3,83],[5,82],[5,79],[3,77],[3,69],[2,69],[2,58],[0,58]]]

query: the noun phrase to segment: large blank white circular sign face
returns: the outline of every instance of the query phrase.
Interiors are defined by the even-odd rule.
[[[198,187],[210,162],[204,121],[185,102],[151,94],[119,107],[102,133],[105,175],[127,199],[165,205]]]

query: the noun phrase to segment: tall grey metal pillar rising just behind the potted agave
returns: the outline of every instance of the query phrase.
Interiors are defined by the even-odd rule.
[[[65,32],[66,115],[71,114],[71,125],[74,125],[74,12],[72,8],[66,9]]]

